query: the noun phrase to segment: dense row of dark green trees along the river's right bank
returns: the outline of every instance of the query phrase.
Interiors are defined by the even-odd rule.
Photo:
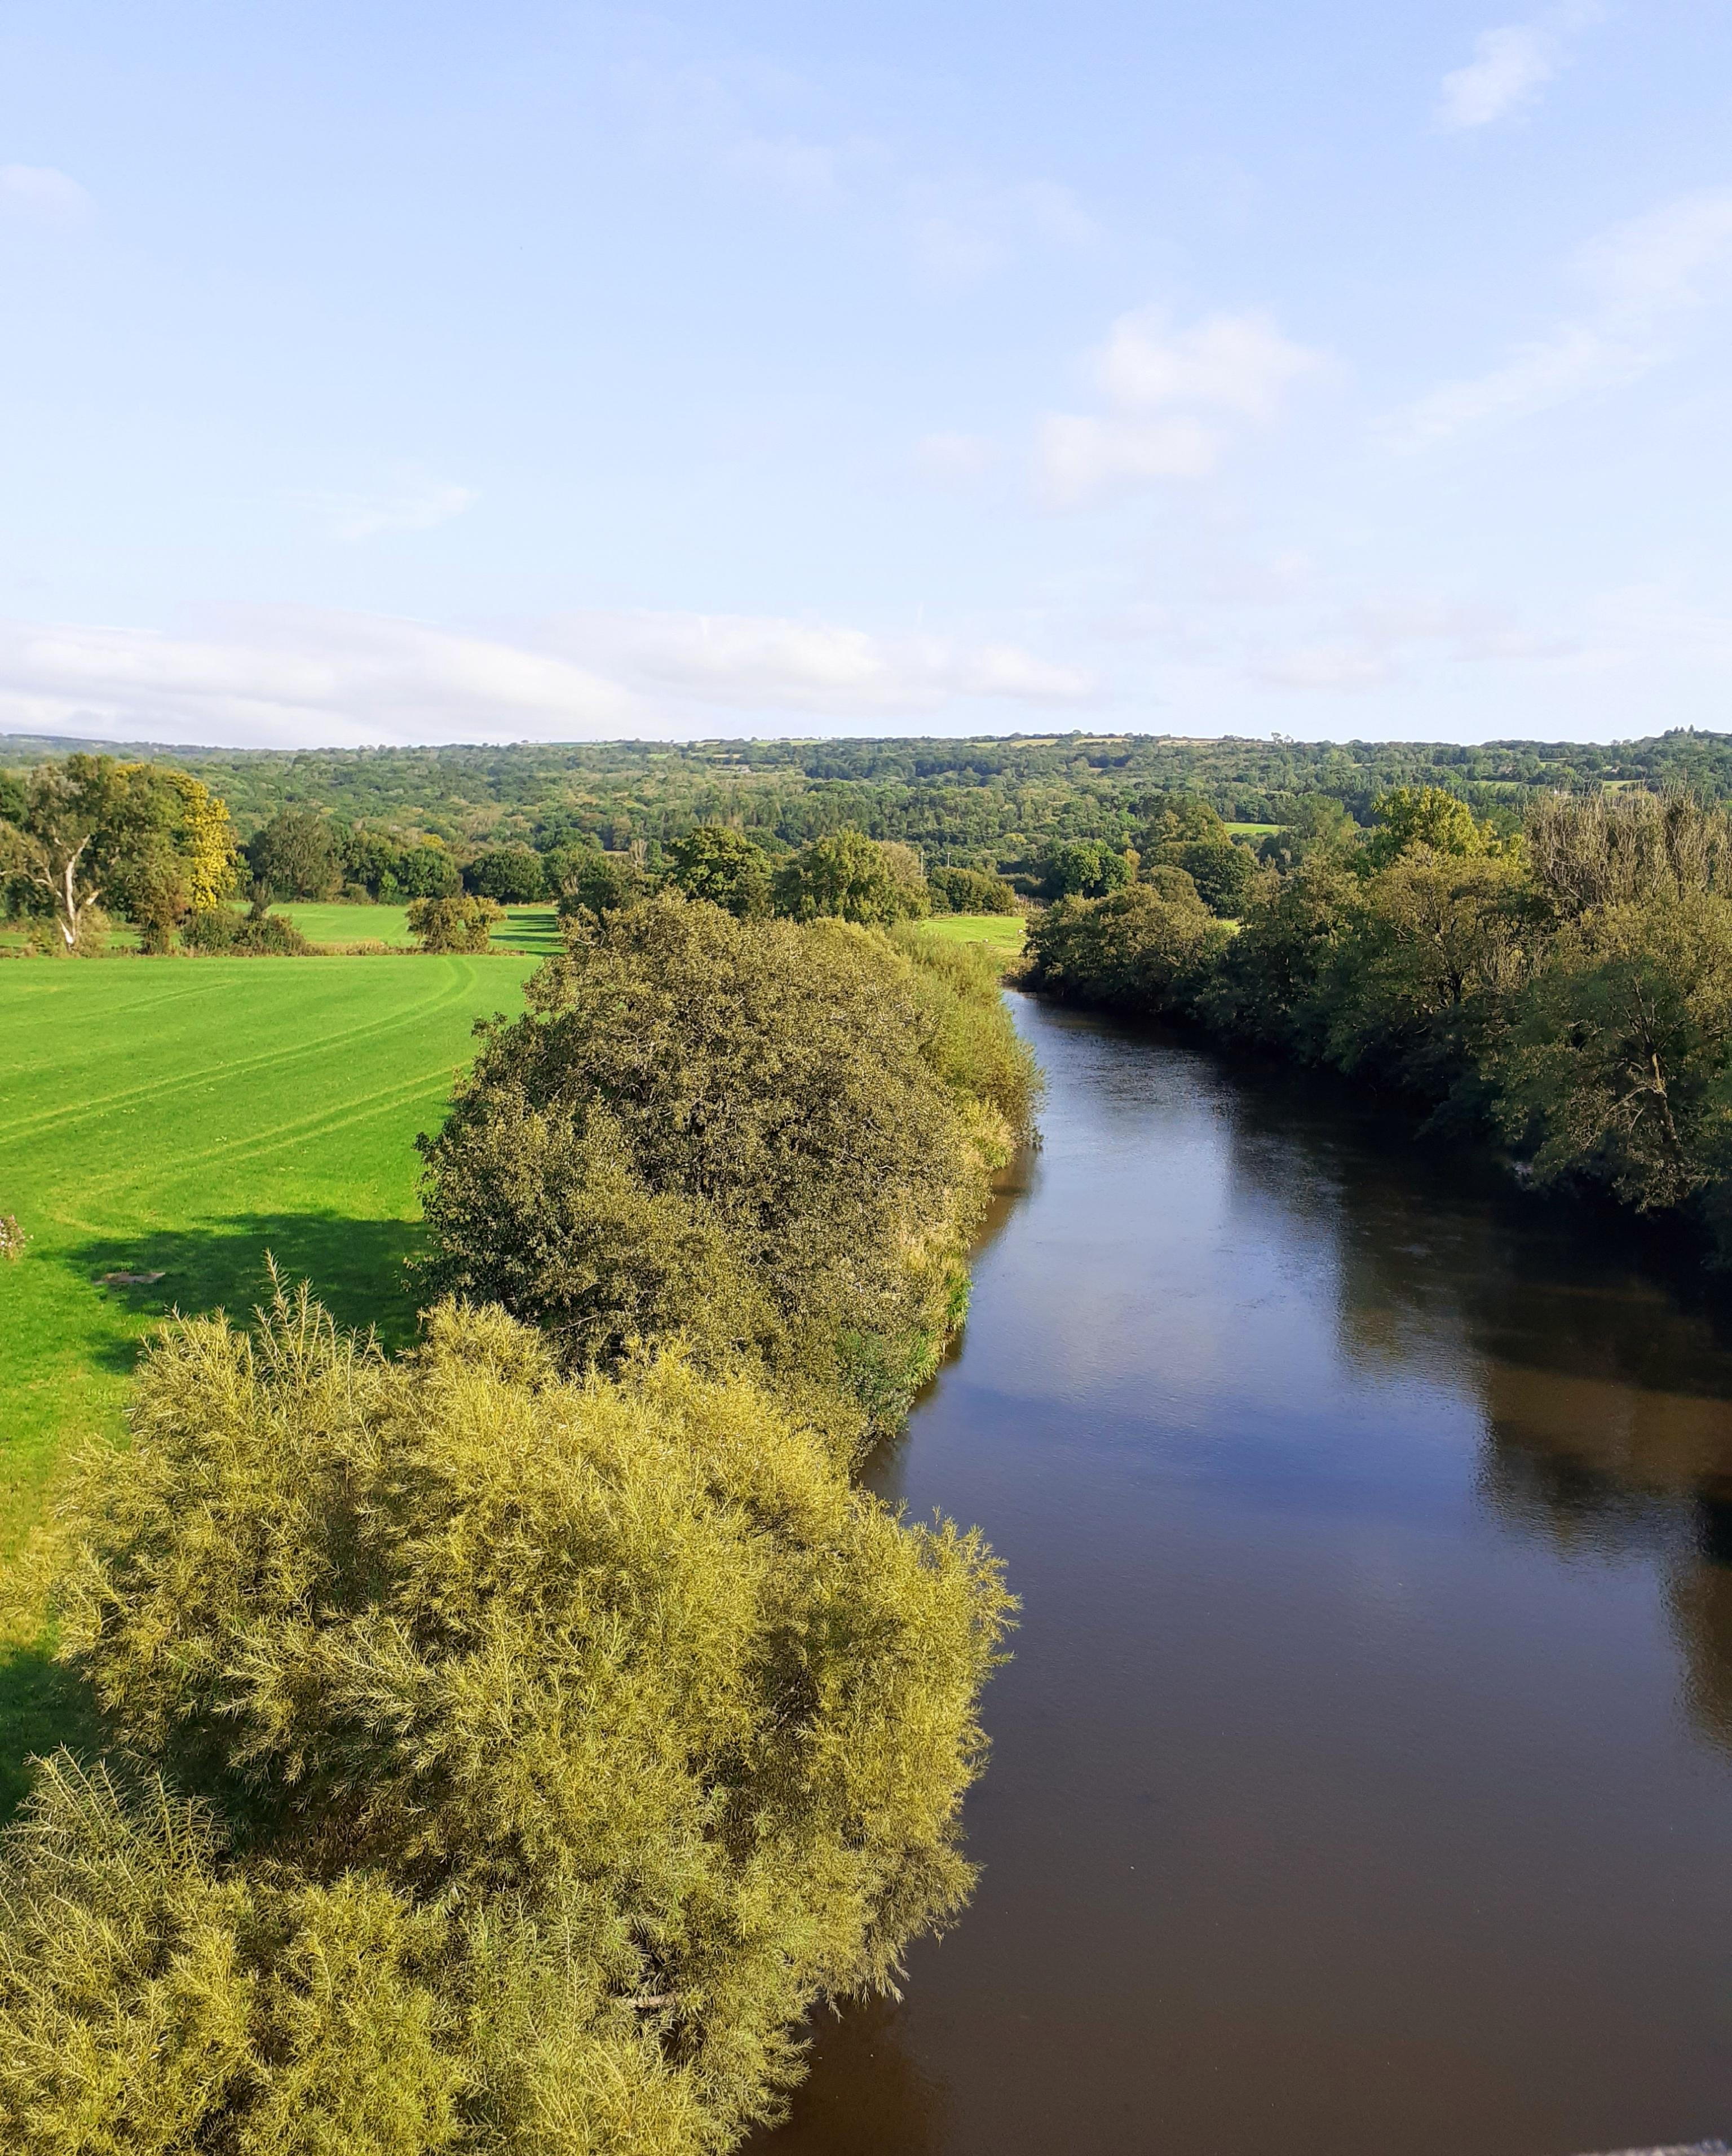
[[[1396,789],[1283,832],[1234,925],[1156,867],[1031,929],[1055,996],[1195,1020],[1495,1132],[1538,1184],[1689,1212],[1732,1248],[1732,826],[1682,791],[1544,796],[1499,837]]]

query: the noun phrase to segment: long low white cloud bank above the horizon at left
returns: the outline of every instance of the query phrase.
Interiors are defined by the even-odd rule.
[[[0,731],[252,746],[682,740],[1074,705],[1091,683],[1014,645],[830,623],[587,614],[533,640],[382,614],[259,608],[205,634],[0,623]],[[725,718],[718,722],[718,714]]]

